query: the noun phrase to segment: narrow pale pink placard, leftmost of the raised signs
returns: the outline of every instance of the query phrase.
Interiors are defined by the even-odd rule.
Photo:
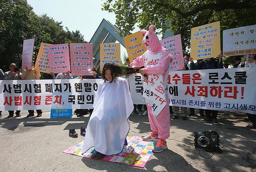
[[[32,58],[35,39],[23,40],[22,69],[32,69]]]

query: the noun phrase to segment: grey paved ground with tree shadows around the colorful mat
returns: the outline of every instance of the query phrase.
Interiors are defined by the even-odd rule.
[[[171,120],[168,150],[155,153],[144,169],[127,165],[89,160],[62,153],[69,146],[84,138],[68,137],[68,130],[77,132],[86,127],[89,116],[70,119],[50,119],[49,111],[42,117],[21,117],[0,119],[0,171],[256,171],[256,130],[246,129],[244,114],[220,112],[221,125],[202,123],[202,117],[193,116],[189,120]],[[172,117],[172,116],[171,116]],[[129,136],[146,136],[150,132],[147,117],[132,115]],[[210,157],[212,153],[199,151],[193,147],[194,131],[215,130],[225,144],[223,153]]]

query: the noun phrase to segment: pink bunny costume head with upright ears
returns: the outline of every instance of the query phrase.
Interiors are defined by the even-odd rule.
[[[149,31],[142,29],[140,32],[145,34],[142,40],[143,45],[147,48],[147,50],[156,53],[162,49],[162,45],[153,30],[154,25],[151,25],[149,27]]]

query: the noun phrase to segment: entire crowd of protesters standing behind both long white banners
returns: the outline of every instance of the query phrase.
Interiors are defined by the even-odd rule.
[[[126,63],[130,64],[129,58],[126,58]],[[223,68],[237,68],[237,67],[256,67],[256,54],[251,55],[251,58],[246,62],[245,60],[242,61],[242,58],[240,56],[235,56],[233,58],[233,62],[229,66],[228,64],[223,64],[223,59],[222,59],[222,54],[219,53],[218,57],[215,58],[205,58],[201,60],[196,60],[194,62],[192,57],[190,55],[185,54],[184,55],[184,67],[183,71],[186,70],[202,70],[202,69],[223,69]],[[190,62],[190,64],[189,64]],[[248,64],[247,64],[248,63]],[[25,79],[40,79],[41,75],[40,72],[36,71],[33,68],[33,63],[32,63],[32,69],[23,69],[22,73],[19,72],[19,69],[16,67],[16,64],[11,63],[9,66],[10,71],[8,72],[3,72],[0,69],[0,80],[25,80]],[[51,76],[53,79],[73,79],[72,74],[70,71],[68,72],[63,72],[57,74],[55,76],[51,72]],[[91,76],[78,76],[79,79],[99,79],[100,77],[98,76],[96,72],[96,68],[93,67],[93,75]],[[132,114],[139,114],[139,112],[143,112],[142,116],[147,115],[147,107],[146,105],[133,105],[133,113]],[[142,110],[142,107],[144,108],[144,111]],[[178,119],[179,118],[179,108],[181,108],[181,116],[182,120],[187,120],[187,116],[193,116],[195,115],[195,109],[194,108],[189,108],[189,113],[188,113],[188,108],[186,107],[175,107],[172,106],[170,107],[170,112],[173,113],[173,119]],[[138,111],[137,111],[138,109]],[[37,117],[42,116],[42,110],[36,110],[37,111]],[[7,118],[14,117],[14,110],[9,110],[9,115]],[[34,116],[34,110],[28,110],[29,114],[26,117],[32,117]],[[93,109],[77,109],[75,110],[74,114],[76,114],[78,117],[82,115],[88,115],[92,114]],[[21,117],[20,115],[20,110],[16,110],[15,112],[16,117]],[[202,117],[205,117],[203,122],[212,122],[213,124],[218,125],[219,122],[217,120],[217,115],[218,111],[217,110],[203,110],[199,109],[199,114]],[[2,111],[0,111],[0,117],[2,117]],[[254,114],[249,114],[247,113],[247,118],[245,120],[250,121],[250,124],[246,126],[248,129],[256,129],[256,115]]]

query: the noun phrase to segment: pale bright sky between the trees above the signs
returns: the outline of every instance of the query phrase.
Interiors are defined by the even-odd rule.
[[[63,28],[79,30],[84,40],[90,41],[104,18],[111,24],[116,23],[114,13],[102,11],[105,0],[27,0],[37,15],[47,14],[55,21],[62,22]],[[137,30],[139,31],[139,29]],[[136,32],[136,30],[135,30]],[[126,49],[121,45],[121,58]]]

